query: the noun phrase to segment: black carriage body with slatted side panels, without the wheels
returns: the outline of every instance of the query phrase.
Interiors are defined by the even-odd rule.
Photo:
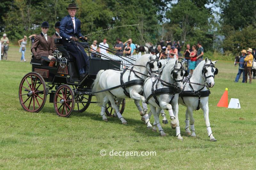
[[[31,59],[32,71],[39,73],[45,82],[52,84],[68,84],[68,85],[79,85],[90,87],[93,80],[96,78],[99,70],[118,69],[121,64],[112,60],[103,60],[101,58],[89,57],[89,69],[87,75],[80,79],[76,62],[74,57],[68,54],[68,51],[63,47],[59,46],[54,51],[62,53],[62,57],[67,59],[67,65],[61,67],[60,63],[56,62],[54,67],[49,66],[48,61]]]

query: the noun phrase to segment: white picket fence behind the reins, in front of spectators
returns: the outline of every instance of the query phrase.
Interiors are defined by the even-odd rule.
[[[105,57],[105,55],[106,55],[107,57],[113,59],[113,60],[122,61],[123,64],[126,65],[126,66],[130,66],[131,63],[134,64],[134,62],[135,62],[135,61],[133,61],[133,60],[131,60],[131,59],[125,57],[125,56],[121,56],[122,58],[124,58],[125,60],[127,60],[127,61],[125,61],[124,59],[122,59],[122,58],[120,58],[119,56],[117,56],[117,55],[115,55],[115,54],[112,54],[112,53],[103,53],[103,55],[101,55],[101,58],[102,58],[103,60],[109,60],[108,58]],[[134,58],[134,60],[137,60],[138,58],[140,58],[140,56],[141,56],[141,53],[135,54],[135,55],[131,55],[131,56],[129,56],[129,57]],[[131,62],[131,63],[129,63],[128,61]]]

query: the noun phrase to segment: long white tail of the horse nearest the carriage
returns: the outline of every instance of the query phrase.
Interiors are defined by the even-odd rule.
[[[105,71],[105,70],[100,70],[96,76],[96,79],[94,80],[94,82],[92,83],[92,92],[98,92],[98,91],[101,91],[103,90],[101,87],[100,87],[100,75],[101,73]],[[98,105],[99,106],[102,106],[102,103],[103,103],[103,98],[104,98],[104,92],[100,92],[100,93],[95,93],[95,96],[96,96],[96,99],[98,101]]]

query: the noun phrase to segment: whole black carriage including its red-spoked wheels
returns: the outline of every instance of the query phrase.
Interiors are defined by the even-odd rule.
[[[58,40],[55,40],[58,43]],[[88,43],[82,42],[85,49]],[[88,51],[88,48],[87,48]],[[89,53],[88,53],[89,54]],[[69,117],[72,111],[84,112],[92,101],[92,83],[99,70],[116,69],[121,67],[121,62],[103,60],[101,56],[89,55],[89,67],[86,76],[80,79],[75,57],[69,55],[64,46],[57,45],[53,52],[55,64],[47,57],[42,60],[31,58],[32,72],[26,74],[19,87],[19,99],[21,107],[28,112],[39,112],[50,95],[50,103],[53,103],[56,114],[61,117]],[[124,112],[125,99],[121,102],[120,113]],[[113,115],[113,109],[109,102],[106,114]]]

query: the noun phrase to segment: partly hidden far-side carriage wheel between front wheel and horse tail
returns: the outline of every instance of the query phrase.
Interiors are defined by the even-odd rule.
[[[82,113],[84,112],[90,105],[90,102],[92,100],[92,95],[77,95],[76,99],[75,99],[75,107],[74,107],[74,112],[79,112]]]

